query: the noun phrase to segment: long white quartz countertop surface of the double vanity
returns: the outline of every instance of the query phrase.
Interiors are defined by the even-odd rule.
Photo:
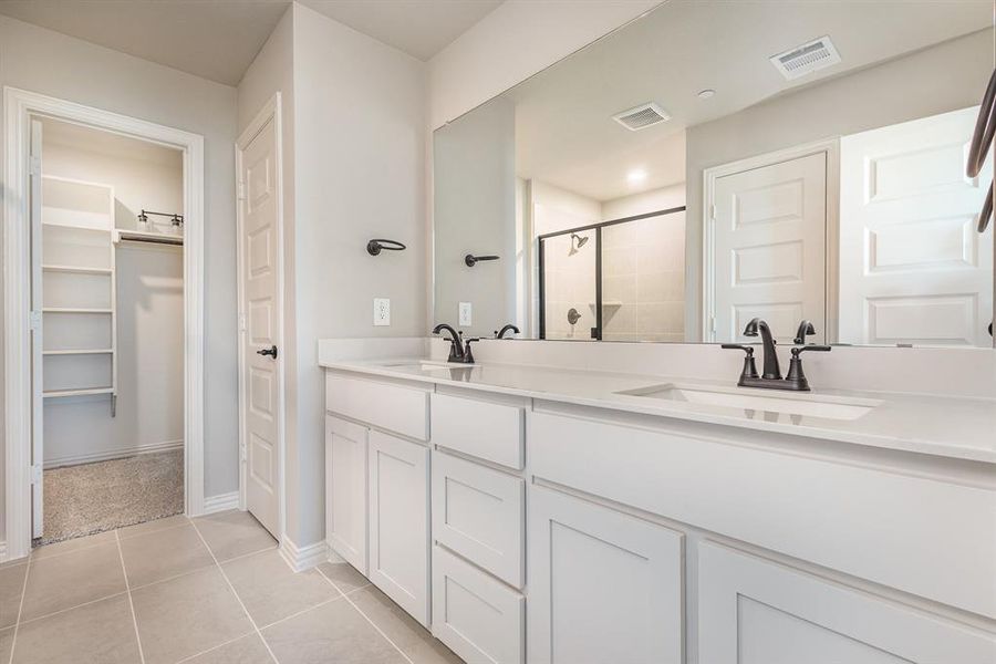
[[[843,390],[792,393],[736,387],[734,381],[697,381],[516,364],[447,365],[424,357],[330,360],[321,362],[321,365],[388,378],[996,463],[996,400],[990,398]],[[836,419],[620,394],[655,386],[665,388],[667,385],[685,391],[873,407],[857,418]]]

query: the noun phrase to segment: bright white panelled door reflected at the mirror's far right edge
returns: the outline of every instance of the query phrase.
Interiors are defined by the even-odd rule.
[[[840,141],[840,341],[990,346],[993,163],[965,177],[977,107]]]

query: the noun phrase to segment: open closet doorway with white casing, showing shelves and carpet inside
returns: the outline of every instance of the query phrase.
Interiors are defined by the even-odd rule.
[[[3,284],[6,557],[19,558],[203,512],[203,138],[4,100],[4,261],[24,276]]]

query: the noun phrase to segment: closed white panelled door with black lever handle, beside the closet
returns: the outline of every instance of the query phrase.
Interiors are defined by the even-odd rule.
[[[278,252],[277,134],[270,118],[242,149],[241,320],[245,326],[241,391],[245,404],[242,460],[246,504],[267,530],[279,538],[279,363],[280,330]],[[276,356],[272,353],[276,350]],[[266,351],[269,354],[261,354]]]

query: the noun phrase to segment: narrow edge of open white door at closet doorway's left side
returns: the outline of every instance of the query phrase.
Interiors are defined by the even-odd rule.
[[[44,406],[42,396],[42,124],[31,121],[29,205],[31,210],[31,537],[44,531],[44,478],[42,476]]]

